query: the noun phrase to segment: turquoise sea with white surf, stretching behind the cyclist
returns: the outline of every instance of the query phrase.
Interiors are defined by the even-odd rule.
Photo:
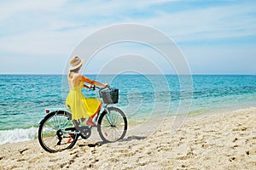
[[[89,75],[119,89],[129,123],[256,107],[255,75]],[[66,75],[0,75],[0,144],[37,139],[45,109],[66,109]],[[83,89],[88,98],[97,91]]]

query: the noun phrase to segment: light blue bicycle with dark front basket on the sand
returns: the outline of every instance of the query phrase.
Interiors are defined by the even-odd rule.
[[[85,86],[85,85],[84,85]],[[118,103],[119,90],[114,88],[99,88],[102,98],[102,111],[96,116],[96,128],[103,143],[116,142],[124,139],[127,131],[127,118],[118,107],[109,106]],[[91,129],[88,125],[81,126],[77,120],[72,120],[70,111],[57,109],[45,110],[47,115],[39,123],[38,140],[42,148],[49,152],[56,152],[73,148],[79,137],[89,139]]]

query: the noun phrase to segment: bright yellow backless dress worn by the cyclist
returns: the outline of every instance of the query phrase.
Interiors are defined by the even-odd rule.
[[[93,116],[102,106],[100,99],[85,98],[82,94],[83,87],[84,82],[80,82],[79,86],[70,89],[67,95],[66,105],[72,113],[73,120]]]

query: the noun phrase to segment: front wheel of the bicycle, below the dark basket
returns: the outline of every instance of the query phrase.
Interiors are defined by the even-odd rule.
[[[115,142],[124,139],[127,131],[125,113],[116,107],[109,107],[99,117],[97,130],[103,142]]]

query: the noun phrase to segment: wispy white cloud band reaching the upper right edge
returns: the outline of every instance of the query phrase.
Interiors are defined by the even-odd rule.
[[[236,4],[231,6],[191,9],[159,15],[141,20],[176,37],[178,41],[214,40],[227,37],[256,35],[256,4]],[[254,14],[255,15],[255,14]]]

